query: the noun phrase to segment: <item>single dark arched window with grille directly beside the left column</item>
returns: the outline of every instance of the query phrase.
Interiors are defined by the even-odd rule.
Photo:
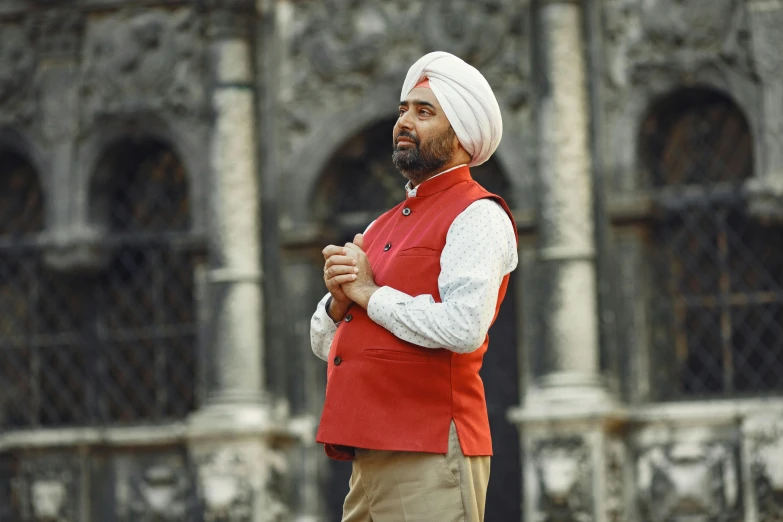
[[[95,287],[95,342],[109,422],[177,418],[194,407],[194,256],[184,166],[156,141],[117,143],[91,186],[90,217],[107,229]]]

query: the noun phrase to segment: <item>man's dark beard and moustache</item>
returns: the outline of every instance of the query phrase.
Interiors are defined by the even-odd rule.
[[[397,138],[405,136],[413,141],[412,147],[400,148],[394,146],[392,162],[402,175],[414,185],[435,174],[454,156],[454,129],[449,127],[440,136],[435,136],[423,145],[413,134],[401,131]]]

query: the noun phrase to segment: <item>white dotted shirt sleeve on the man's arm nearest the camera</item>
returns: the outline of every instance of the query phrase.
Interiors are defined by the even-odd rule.
[[[503,277],[518,263],[511,221],[495,201],[472,203],[449,228],[441,253],[438,289],[410,296],[381,287],[370,298],[370,319],[424,348],[470,353],[484,343]]]

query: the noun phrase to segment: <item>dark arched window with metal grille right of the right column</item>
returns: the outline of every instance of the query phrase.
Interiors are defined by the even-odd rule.
[[[663,398],[783,391],[783,231],[748,214],[753,142],[707,89],[657,104],[640,136],[653,193],[653,365]]]

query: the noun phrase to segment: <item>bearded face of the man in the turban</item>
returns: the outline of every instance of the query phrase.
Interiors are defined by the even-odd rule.
[[[423,87],[413,89],[400,103],[393,138],[394,166],[414,185],[437,173],[459,146],[432,89]]]

